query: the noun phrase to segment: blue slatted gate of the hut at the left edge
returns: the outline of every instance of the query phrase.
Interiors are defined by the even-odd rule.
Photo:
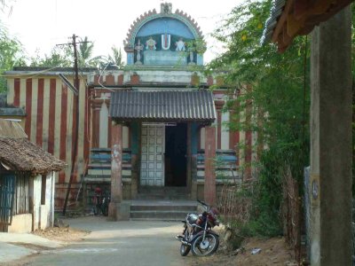
[[[15,176],[0,176],[0,231],[12,224],[12,207],[15,194]]]

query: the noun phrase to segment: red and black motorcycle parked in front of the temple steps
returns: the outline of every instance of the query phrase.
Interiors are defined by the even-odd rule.
[[[217,251],[219,246],[219,236],[217,232],[212,231],[216,225],[217,208],[209,207],[201,200],[197,200],[205,211],[201,214],[187,214],[184,223],[182,235],[177,235],[176,239],[181,242],[180,254],[185,256],[190,250],[196,256],[209,256]]]

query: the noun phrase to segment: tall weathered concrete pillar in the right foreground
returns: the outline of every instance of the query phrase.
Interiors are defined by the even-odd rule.
[[[311,46],[312,265],[351,265],[351,6]]]

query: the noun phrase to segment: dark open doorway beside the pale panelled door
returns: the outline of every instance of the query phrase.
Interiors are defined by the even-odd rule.
[[[165,185],[186,186],[187,124],[165,128]]]

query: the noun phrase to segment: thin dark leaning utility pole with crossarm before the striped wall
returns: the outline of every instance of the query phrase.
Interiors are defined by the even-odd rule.
[[[62,44],[57,44],[57,45],[73,45],[74,48],[74,71],[75,71],[75,81],[74,81],[74,87],[77,91],[77,94],[74,95],[74,101],[73,101],[73,112],[75,112],[75,123],[74,123],[74,151],[73,151],[73,156],[72,156],[72,168],[70,171],[70,178],[69,178],[69,183],[67,184],[67,195],[66,195],[66,200],[64,201],[64,207],[63,207],[63,215],[66,215],[67,211],[67,200],[69,199],[69,194],[70,194],[70,189],[73,183],[73,179],[75,176],[75,164],[76,164],[76,159],[77,159],[77,150],[78,150],[78,131],[79,131],[79,70],[78,70],[78,64],[77,64],[77,49],[76,49],[76,44],[78,43],[90,43],[90,42],[76,42],[76,35],[72,36],[72,43],[62,43]]]

